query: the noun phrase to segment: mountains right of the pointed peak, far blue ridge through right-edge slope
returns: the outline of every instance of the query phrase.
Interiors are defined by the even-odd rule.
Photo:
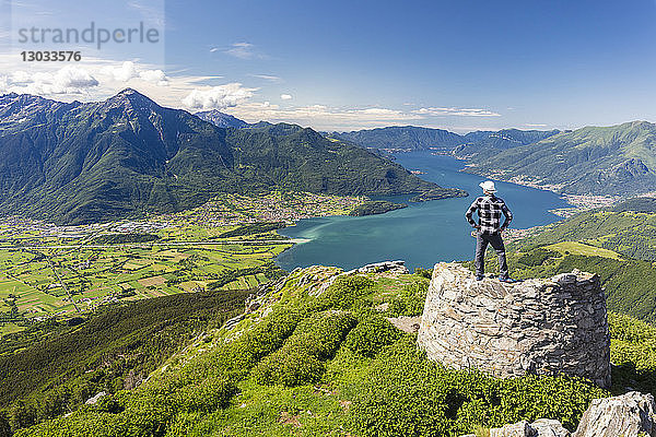
[[[389,127],[328,134],[376,150],[434,150],[467,172],[573,194],[656,191],[656,125],[633,121],[574,131],[504,129],[458,135],[442,129]]]

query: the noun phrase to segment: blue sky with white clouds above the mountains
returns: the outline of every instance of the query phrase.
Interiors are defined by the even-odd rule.
[[[102,98],[127,84],[191,111],[328,130],[656,121],[653,0],[125,3],[126,22],[161,14],[164,55],[94,54],[75,67],[93,78],[81,83],[97,84],[45,90],[56,91],[50,97]],[[74,2],[58,4],[59,13],[75,10]],[[5,61],[0,74],[25,67]],[[80,73],[69,70],[65,78]],[[8,90],[25,85],[5,82]]]

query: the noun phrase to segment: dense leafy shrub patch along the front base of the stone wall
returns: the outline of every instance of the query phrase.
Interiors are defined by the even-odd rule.
[[[591,399],[608,393],[574,378],[495,379],[427,361],[403,336],[374,359],[353,399],[349,420],[360,436],[448,436],[477,425],[502,426],[539,417],[573,429]]]

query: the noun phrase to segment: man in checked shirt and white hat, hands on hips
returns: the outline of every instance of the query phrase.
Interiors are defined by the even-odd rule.
[[[513,283],[515,280],[508,275],[505,247],[501,238],[501,233],[508,227],[513,220],[513,213],[511,213],[503,199],[494,196],[496,189],[492,180],[485,180],[479,184],[479,187],[483,189],[483,196],[477,198],[465,214],[469,224],[476,228],[476,279],[478,281],[483,279],[485,273],[485,249],[490,244],[499,257],[499,281]],[[471,217],[475,211],[478,211],[478,224]],[[502,213],[505,216],[503,225],[501,224]]]

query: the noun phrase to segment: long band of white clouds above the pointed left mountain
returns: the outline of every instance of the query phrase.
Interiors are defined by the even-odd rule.
[[[281,98],[279,106],[276,103],[258,101],[257,91],[259,88],[257,87],[247,87],[236,82],[213,86],[218,83],[218,79],[222,79],[221,76],[195,75],[187,70],[169,71],[169,75],[166,75],[161,69],[161,66],[137,61],[126,63],[85,57],[81,62],[65,69],[42,62],[31,66],[31,70],[26,71],[20,69],[15,57],[0,54],[0,94],[31,93],[63,102],[102,101],[125,88],[126,82],[129,82],[130,87],[163,106],[186,108],[187,110],[230,108],[231,115],[248,122],[285,121],[319,130],[354,130],[405,125],[429,126],[431,117],[434,115],[473,116],[469,117],[470,119],[494,118],[494,113],[489,110],[455,107],[425,107],[412,110],[413,108],[407,106],[399,108],[294,106],[293,97],[295,96],[292,96],[292,99],[284,99],[282,94],[279,94]],[[2,74],[2,72],[7,73]],[[168,83],[166,87],[160,85],[163,78]],[[435,127],[461,131],[481,128],[480,126],[471,128]]]

